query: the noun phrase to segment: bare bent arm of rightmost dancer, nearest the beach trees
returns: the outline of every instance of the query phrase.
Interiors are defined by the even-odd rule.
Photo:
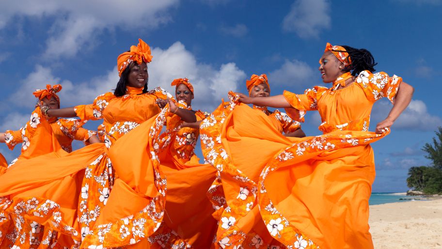
[[[395,104],[388,114],[387,118],[380,121],[376,125],[376,133],[381,133],[381,130],[386,127],[390,127],[399,117],[399,115],[407,108],[411,102],[411,97],[413,97],[414,88],[405,83],[401,82],[399,89],[397,90]]]

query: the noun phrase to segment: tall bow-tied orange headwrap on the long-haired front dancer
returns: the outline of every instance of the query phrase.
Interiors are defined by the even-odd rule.
[[[142,39],[138,39],[138,46],[131,46],[129,52],[120,54],[117,58],[118,75],[121,77],[121,73],[131,62],[136,62],[138,65],[142,62],[149,63],[152,61],[152,55],[150,54],[150,47]]]

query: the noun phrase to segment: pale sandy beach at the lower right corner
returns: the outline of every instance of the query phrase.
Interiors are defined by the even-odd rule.
[[[370,206],[375,249],[442,249],[442,197]]]

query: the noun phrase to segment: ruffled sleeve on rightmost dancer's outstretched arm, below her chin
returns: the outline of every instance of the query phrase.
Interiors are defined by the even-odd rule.
[[[317,101],[327,90],[327,87],[315,86],[305,90],[304,94],[284,91],[285,100],[292,106],[292,108],[285,108],[287,115],[295,121],[304,122],[305,112],[317,110]]]

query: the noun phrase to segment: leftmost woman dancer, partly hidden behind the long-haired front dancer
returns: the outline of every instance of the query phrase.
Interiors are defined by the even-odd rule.
[[[62,90],[62,86],[46,85],[46,89],[36,90],[33,92],[34,96],[38,99],[38,106],[42,106],[43,110],[48,109],[60,109],[60,97],[57,95]],[[61,148],[66,152],[72,152],[72,141],[79,140],[85,144],[94,144],[100,142],[96,137],[96,132],[88,131],[81,126],[84,124],[76,119],[65,119],[56,117],[44,117],[50,124],[53,136],[56,138]],[[24,125],[18,131],[6,131],[0,133],[0,142],[6,143],[9,149],[14,149],[17,144],[21,144],[21,154],[17,157],[12,164],[14,164],[19,158],[32,158],[42,155],[43,153],[52,152],[46,150],[48,148],[42,147],[42,139],[51,140],[50,137],[42,138],[40,133],[35,128],[40,124],[42,116],[40,112],[34,111],[31,115],[30,121]],[[35,144],[35,146],[34,146]],[[11,165],[12,165],[11,164]]]

